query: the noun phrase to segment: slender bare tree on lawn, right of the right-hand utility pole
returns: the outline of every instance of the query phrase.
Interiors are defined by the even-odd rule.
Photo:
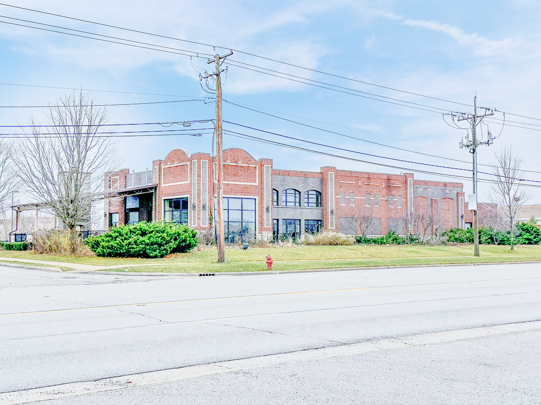
[[[496,160],[492,163],[494,184],[491,188],[492,203],[502,206],[511,231],[511,250],[513,245],[514,218],[517,212],[529,198],[520,178],[524,177],[523,160],[515,153],[512,146],[504,146],[496,152]]]

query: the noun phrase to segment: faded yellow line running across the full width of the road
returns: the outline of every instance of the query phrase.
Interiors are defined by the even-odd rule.
[[[321,291],[299,291],[299,292],[293,292],[293,293],[277,293],[277,294],[262,294],[262,295],[240,295],[240,296],[220,297],[220,298],[201,298],[201,299],[194,299],[194,300],[140,302],[140,303],[134,303],[134,304],[108,305],[108,306],[104,306],[104,307],[53,309],[51,311],[19,312],[19,313],[14,313],[14,314],[0,314],[0,316],[49,314],[49,313],[55,313],[55,312],[87,311],[88,309],[126,308],[126,307],[140,307],[140,306],[146,306],[146,305],[162,305],[162,304],[173,304],[173,303],[184,303],[184,302],[235,300],[235,299],[240,299],[240,298],[265,298],[265,297],[284,296],[284,295],[340,293],[340,292],[347,292],[347,291],[362,291],[362,290],[368,290],[368,289],[390,289],[390,288],[407,288],[407,287],[446,286],[446,285],[458,285],[458,284],[477,284],[477,283],[481,283],[481,282],[525,281],[525,280],[539,280],[539,279],[541,279],[541,277],[536,277],[536,278],[531,278],[531,279],[441,282],[441,283],[437,283],[437,284],[413,284],[413,285],[407,285],[407,286],[362,287],[362,288],[328,289],[328,290],[321,290]]]

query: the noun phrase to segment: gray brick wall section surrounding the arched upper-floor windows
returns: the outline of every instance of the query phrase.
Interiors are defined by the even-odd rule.
[[[272,207],[272,218],[278,219],[278,232],[282,233],[282,219],[300,219],[301,237],[304,236],[305,219],[323,219],[323,208],[305,207],[304,193],[308,190],[317,190],[323,194],[323,179],[313,177],[276,176],[272,177],[274,190],[278,190],[278,207]],[[282,206],[282,191],[294,188],[301,192],[300,207]],[[323,197],[322,200],[324,201]],[[324,203],[325,204],[325,203]]]

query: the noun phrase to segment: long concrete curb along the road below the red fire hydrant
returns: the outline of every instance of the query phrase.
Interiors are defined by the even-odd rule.
[[[259,274],[292,274],[292,273],[319,273],[319,272],[344,272],[352,270],[382,270],[393,268],[422,268],[422,267],[454,267],[454,266],[489,266],[489,265],[516,265],[516,264],[541,264],[541,261],[496,261],[489,263],[450,263],[443,265],[403,265],[403,266],[369,266],[369,267],[343,267],[343,268],[316,268],[306,270],[285,270],[277,272],[216,272],[215,275],[259,275]],[[121,274],[121,275],[147,275],[147,276],[184,276],[197,277],[200,273],[141,273],[141,272],[102,272],[102,271],[85,271],[78,272],[79,274]],[[209,272],[202,273],[209,274]]]

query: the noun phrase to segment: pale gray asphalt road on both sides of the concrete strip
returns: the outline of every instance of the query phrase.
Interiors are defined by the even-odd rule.
[[[541,319],[537,264],[144,279],[23,272],[0,268],[4,393]],[[156,395],[160,403],[541,403],[540,336],[333,357],[48,403],[155,403]]]

